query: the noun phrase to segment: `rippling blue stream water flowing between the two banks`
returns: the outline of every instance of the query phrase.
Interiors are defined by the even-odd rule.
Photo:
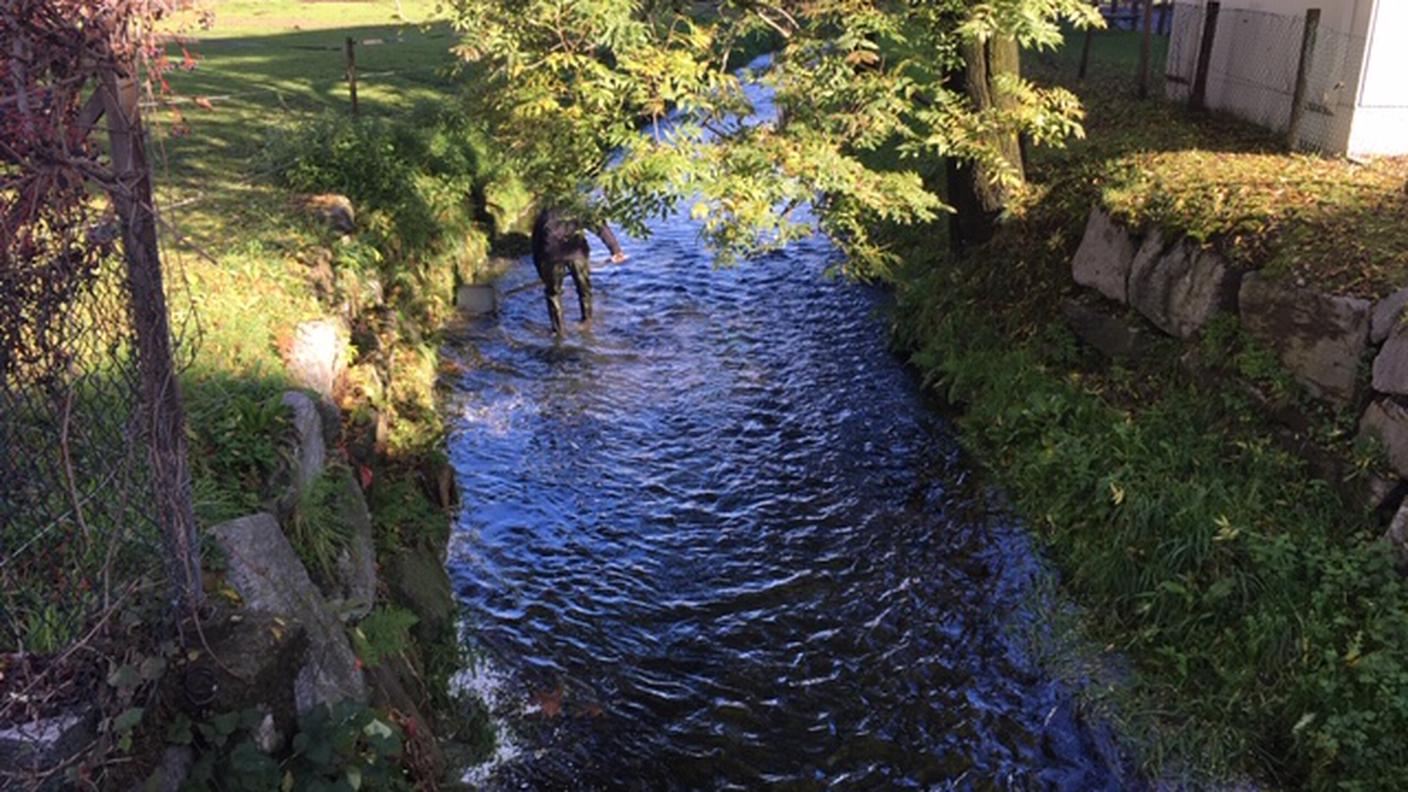
[[[556,342],[524,261],[448,349],[449,568],[518,744],[487,785],[1131,786],[1031,660],[1041,559],[883,295],[822,238],[725,271],[686,217],[625,247],[590,327]]]

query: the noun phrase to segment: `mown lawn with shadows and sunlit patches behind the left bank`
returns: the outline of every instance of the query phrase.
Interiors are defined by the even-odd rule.
[[[206,6],[208,24],[194,13],[170,21],[168,56],[184,68],[168,73],[149,121],[168,289],[191,351],[184,390],[207,523],[258,506],[277,448],[255,435],[273,426],[266,404],[289,385],[280,345],[328,313],[310,272],[328,251],[349,249],[275,183],[270,142],[351,114],[348,38],[362,118],[404,118],[455,96],[452,32],[434,21],[435,3],[404,0],[403,18],[397,6],[230,0]]]

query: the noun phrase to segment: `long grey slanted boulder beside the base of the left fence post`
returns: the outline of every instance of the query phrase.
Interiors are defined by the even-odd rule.
[[[225,552],[230,583],[245,606],[300,624],[307,633],[308,647],[293,686],[298,713],[342,699],[366,702],[366,683],[346,633],[273,516],[241,517],[210,533]]]

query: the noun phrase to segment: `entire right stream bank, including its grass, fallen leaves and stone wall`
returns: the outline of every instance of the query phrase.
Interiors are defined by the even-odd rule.
[[[1129,660],[1102,695],[1150,776],[1401,788],[1408,589],[1381,541],[1398,488],[1357,441],[1390,393],[1388,364],[1377,385],[1369,371],[1369,300],[1401,286],[1401,248],[1360,251],[1360,275],[1332,244],[1381,224],[1401,180],[1138,101],[1119,69],[1076,82],[1079,51],[1031,66],[1080,94],[1088,137],[1033,148],[991,244],[955,256],[942,227],[894,233],[897,344],[1083,630]],[[1297,324],[1307,302],[1326,307]]]

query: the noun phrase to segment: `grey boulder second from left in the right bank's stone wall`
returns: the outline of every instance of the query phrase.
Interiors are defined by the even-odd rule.
[[[1188,338],[1218,311],[1236,311],[1242,272],[1193,240],[1173,245],[1153,231],[1129,268],[1129,304],[1159,330]]]

